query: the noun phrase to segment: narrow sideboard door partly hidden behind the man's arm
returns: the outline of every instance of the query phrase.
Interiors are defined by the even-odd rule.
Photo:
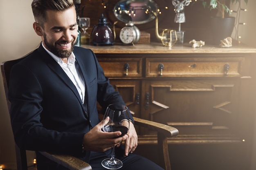
[[[140,117],[141,81],[132,79],[110,79],[110,84],[120,93],[135,117]]]

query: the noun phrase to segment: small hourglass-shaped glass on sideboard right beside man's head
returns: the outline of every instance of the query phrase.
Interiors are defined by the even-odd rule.
[[[86,32],[86,30],[90,27],[90,18],[87,18],[87,17],[79,18],[79,26],[83,30],[83,33],[81,33],[81,44],[89,43],[90,35]]]

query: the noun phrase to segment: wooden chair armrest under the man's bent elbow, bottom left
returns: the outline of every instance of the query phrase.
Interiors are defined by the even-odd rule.
[[[48,152],[40,153],[70,170],[92,170],[92,167],[88,163],[70,155],[49,154]]]

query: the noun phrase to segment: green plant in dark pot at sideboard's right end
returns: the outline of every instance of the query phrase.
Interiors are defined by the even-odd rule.
[[[216,17],[211,17],[213,44],[219,45],[220,40],[230,37],[235,25],[235,17],[230,17],[231,10],[227,6],[230,2],[240,3],[242,0],[201,0],[204,7],[218,10]],[[248,0],[243,0],[246,4]]]

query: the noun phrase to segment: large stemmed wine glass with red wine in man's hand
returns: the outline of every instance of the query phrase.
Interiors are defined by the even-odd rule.
[[[110,119],[108,123],[102,127],[104,132],[120,131],[121,135],[118,137],[122,137],[128,132],[130,121],[127,106],[110,104],[105,112],[103,121],[107,117]],[[123,166],[123,162],[115,158],[115,146],[113,147],[111,158],[104,159],[101,165],[110,170],[116,170]]]

